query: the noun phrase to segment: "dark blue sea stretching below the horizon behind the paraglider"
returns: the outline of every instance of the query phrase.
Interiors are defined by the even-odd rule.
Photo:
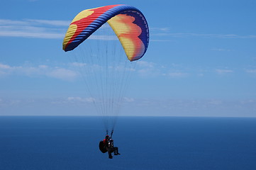
[[[97,117],[0,117],[0,169],[256,169],[256,118],[120,117],[113,159],[104,135]]]

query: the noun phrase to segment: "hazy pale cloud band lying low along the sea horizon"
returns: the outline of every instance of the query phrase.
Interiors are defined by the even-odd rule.
[[[255,117],[256,101],[178,98],[126,98],[121,115]],[[140,101],[140,102],[133,102]],[[1,98],[0,115],[90,115],[94,98]],[[54,107],[52,107],[54,106]],[[40,108],[38,110],[38,108]],[[128,109],[126,109],[128,108]],[[33,112],[30,112],[32,109]],[[86,109],[87,112],[84,112]],[[57,111],[56,111],[57,110]],[[145,114],[146,113],[146,114]]]

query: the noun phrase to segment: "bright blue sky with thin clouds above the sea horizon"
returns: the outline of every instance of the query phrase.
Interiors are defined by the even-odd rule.
[[[256,1],[2,0],[0,115],[92,115],[62,50],[72,18],[129,4],[150,27],[121,115],[256,116]]]

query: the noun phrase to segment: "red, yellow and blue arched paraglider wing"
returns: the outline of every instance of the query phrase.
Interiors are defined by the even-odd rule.
[[[148,23],[138,8],[128,5],[102,6],[78,13],[67,30],[63,50],[74,50],[106,22],[116,33],[128,60],[143,57],[149,42]]]

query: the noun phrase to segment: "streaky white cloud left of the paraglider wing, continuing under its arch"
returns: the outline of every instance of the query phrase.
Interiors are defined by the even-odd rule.
[[[0,19],[0,37],[62,39],[71,21]],[[108,28],[109,26],[104,26]],[[106,30],[106,29],[104,29]],[[105,33],[107,33],[105,31]],[[116,35],[91,35],[92,40],[118,40]]]

